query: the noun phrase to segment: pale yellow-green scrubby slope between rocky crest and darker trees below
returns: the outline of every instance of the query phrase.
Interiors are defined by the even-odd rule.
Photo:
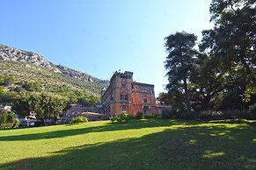
[[[98,95],[100,90],[106,85],[99,82],[92,83],[90,81],[81,81],[70,78],[63,74],[54,73],[45,67],[25,67],[24,63],[18,62],[0,62],[0,69],[14,71],[16,81],[37,81],[47,90],[52,91],[55,87],[65,85],[71,91],[82,90],[89,95]]]

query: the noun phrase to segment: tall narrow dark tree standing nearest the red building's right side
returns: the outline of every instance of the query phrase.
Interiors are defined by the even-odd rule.
[[[191,112],[190,95],[187,84],[190,81],[193,60],[197,53],[194,50],[196,36],[187,32],[176,32],[165,38],[165,48],[168,56],[165,60],[165,69],[168,71],[166,86],[169,94],[181,94],[185,97],[186,110]]]

